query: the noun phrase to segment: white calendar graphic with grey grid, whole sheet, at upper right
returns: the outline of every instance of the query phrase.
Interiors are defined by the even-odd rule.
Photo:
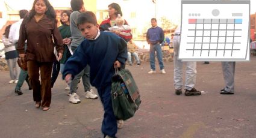
[[[249,61],[250,1],[181,1],[183,61]]]

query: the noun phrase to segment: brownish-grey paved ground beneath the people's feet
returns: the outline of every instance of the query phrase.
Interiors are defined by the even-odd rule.
[[[136,115],[125,121],[117,137],[255,137],[256,57],[237,62],[235,94],[220,95],[223,76],[220,62],[198,62],[196,89],[202,95],[175,95],[173,62],[166,74],[148,74],[149,62],[127,66],[140,89],[142,104]],[[0,137],[103,137],[100,100],[86,99],[80,83],[81,104],[69,103],[66,84],[59,75],[52,89],[51,109],[34,107],[33,92],[24,83],[23,95],[14,94],[8,71],[0,71]]]

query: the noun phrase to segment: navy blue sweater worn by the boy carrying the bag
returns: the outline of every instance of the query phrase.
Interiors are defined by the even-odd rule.
[[[90,83],[96,88],[111,85],[114,74],[114,62],[125,65],[127,44],[113,32],[101,32],[96,40],[85,39],[67,60],[63,79],[67,74],[72,78],[90,65]]]

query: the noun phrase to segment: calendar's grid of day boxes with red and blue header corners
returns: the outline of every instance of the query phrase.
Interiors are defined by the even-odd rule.
[[[207,52],[207,56],[210,57],[210,54],[212,53],[211,51],[215,50],[215,56],[218,55],[219,51],[222,50],[222,56],[225,56],[227,53],[226,51],[231,51],[230,55],[233,56],[233,50],[240,50],[240,49],[234,49],[234,44],[241,44],[239,42],[235,42],[235,38],[240,38],[242,37],[241,35],[236,35],[236,31],[242,31],[242,29],[237,29],[236,24],[241,24],[242,19],[189,19],[189,24],[195,25],[195,29],[188,29],[188,31],[193,31],[194,35],[189,35],[187,37],[192,37],[193,42],[187,42],[187,44],[193,44],[193,49],[186,49],[186,50],[193,50],[192,55],[195,55],[196,51],[200,51],[200,55],[202,56],[204,51]],[[199,29],[199,25],[202,25],[201,28]],[[205,25],[210,25],[208,28],[205,27]],[[217,29],[213,29],[213,25],[217,25]],[[222,25],[222,29],[220,29],[220,25]],[[230,29],[231,26],[228,27],[228,25],[233,25],[233,29]],[[198,33],[198,31],[201,31],[201,35]],[[205,33],[205,31],[208,31],[208,34]],[[210,33],[209,33],[210,31]],[[213,34],[213,31],[217,31],[217,34]],[[232,34],[229,32],[233,32]],[[222,34],[220,34],[222,32]],[[224,33],[224,34],[223,34]],[[217,40],[212,41],[213,38],[216,38]],[[223,38],[224,37],[224,38]],[[202,38],[199,39],[199,38]],[[207,39],[205,39],[207,38]],[[220,41],[220,38],[222,38],[222,41]],[[199,41],[198,41],[199,40]],[[229,41],[228,41],[229,40]],[[200,44],[199,48],[196,44]],[[207,45],[208,44],[208,45]],[[213,44],[216,44],[216,49],[214,49]],[[219,49],[220,44],[223,44],[221,49]],[[227,44],[230,44],[227,46]],[[208,46],[208,47],[207,47]],[[199,54],[199,53],[198,53]],[[206,54],[206,53],[205,53]],[[229,55],[229,52],[228,52]],[[206,55],[205,55],[206,56]]]

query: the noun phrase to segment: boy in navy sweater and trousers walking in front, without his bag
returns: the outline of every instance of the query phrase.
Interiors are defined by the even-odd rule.
[[[86,39],[67,60],[63,79],[69,83],[87,64],[90,65],[90,83],[98,90],[105,111],[102,133],[104,137],[115,137],[117,121],[111,103],[111,77],[114,68],[125,67],[127,44],[112,32],[100,32],[91,11],[79,14],[76,23]]]

